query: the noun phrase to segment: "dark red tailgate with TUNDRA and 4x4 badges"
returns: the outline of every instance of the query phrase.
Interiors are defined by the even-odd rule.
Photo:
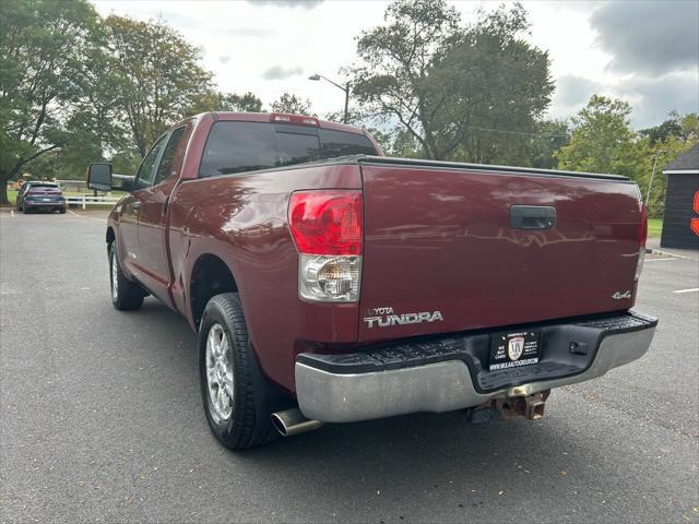
[[[641,221],[635,183],[416,164],[362,166],[359,341],[633,305]],[[547,218],[521,218],[522,210],[550,216],[552,207],[550,228],[538,228]]]

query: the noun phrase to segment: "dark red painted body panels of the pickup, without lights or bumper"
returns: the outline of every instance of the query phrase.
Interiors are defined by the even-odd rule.
[[[218,118],[269,121],[269,115]],[[636,184],[356,164],[198,179],[213,122],[211,114],[190,120],[189,142],[173,175],[122,199],[109,226],[127,274],[192,327],[192,269],[203,255],[224,261],[238,285],[263,372],[289,391],[300,352],[350,352],[358,342],[632,306],[633,298],[617,301],[612,295],[636,289]],[[363,190],[359,305],[298,298],[298,252],[287,213],[292,192],[308,189]],[[556,206],[556,227],[510,229],[512,204]],[[366,310],[382,307],[398,314],[439,310],[445,321],[368,330],[362,321]]]

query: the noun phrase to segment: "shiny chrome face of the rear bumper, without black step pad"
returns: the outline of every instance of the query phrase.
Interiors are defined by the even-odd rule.
[[[578,374],[485,393],[476,390],[463,360],[352,374],[329,372],[297,361],[298,406],[309,419],[353,422],[418,412],[451,412],[493,398],[526,396],[602,377],[642,357],[653,340],[655,324],[656,321],[641,330],[604,336],[592,364]]]

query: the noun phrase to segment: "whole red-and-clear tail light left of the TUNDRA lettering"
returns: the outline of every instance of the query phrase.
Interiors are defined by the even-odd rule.
[[[288,224],[299,252],[298,294],[319,302],[356,302],[362,277],[362,191],[297,191]]]

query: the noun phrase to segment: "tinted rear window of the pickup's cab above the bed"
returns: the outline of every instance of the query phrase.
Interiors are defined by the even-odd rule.
[[[362,134],[287,123],[220,121],[209,133],[199,176],[216,177],[357,154],[377,154]]]

